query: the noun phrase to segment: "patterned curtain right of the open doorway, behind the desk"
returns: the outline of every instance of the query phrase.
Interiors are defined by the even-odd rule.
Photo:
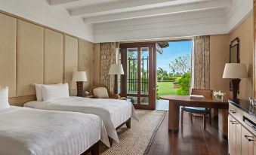
[[[210,89],[210,36],[193,38],[191,87]]]

